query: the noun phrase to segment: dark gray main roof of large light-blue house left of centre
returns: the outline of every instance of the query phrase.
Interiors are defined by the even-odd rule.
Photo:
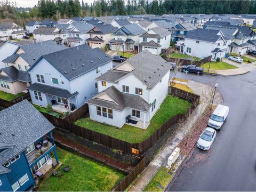
[[[42,58],[69,80],[113,60],[99,48],[92,49],[86,44],[46,54]]]

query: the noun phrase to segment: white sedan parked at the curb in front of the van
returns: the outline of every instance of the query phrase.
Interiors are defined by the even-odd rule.
[[[199,139],[196,142],[196,146],[203,150],[209,150],[215,137],[216,131],[211,127],[206,127],[203,133],[199,136]]]

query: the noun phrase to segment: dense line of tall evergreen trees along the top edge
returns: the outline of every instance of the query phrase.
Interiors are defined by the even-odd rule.
[[[19,11],[18,11],[19,10]],[[11,6],[0,7],[0,19],[24,23],[31,19],[54,19],[130,14],[255,14],[256,1],[170,1],[170,0],[41,0],[29,12]],[[27,9],[26,9],[27,10]]]

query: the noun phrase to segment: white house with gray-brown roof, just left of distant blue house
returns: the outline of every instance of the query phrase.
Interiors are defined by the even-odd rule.
[[[171,33],[163,27],[149,29],[140,36],[139,51],[148,50],[152,54],[159,55],[162,49],[170,47]]]

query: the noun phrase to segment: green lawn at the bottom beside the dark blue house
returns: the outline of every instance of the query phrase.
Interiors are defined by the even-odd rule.
[[[38,191],[111,191],[125,175],[111,167],[96,163],[57,148],[60,161],[63,163],[57,178],[52,175],[39,183]],[[63,167],[70,166],[69,172]]]

